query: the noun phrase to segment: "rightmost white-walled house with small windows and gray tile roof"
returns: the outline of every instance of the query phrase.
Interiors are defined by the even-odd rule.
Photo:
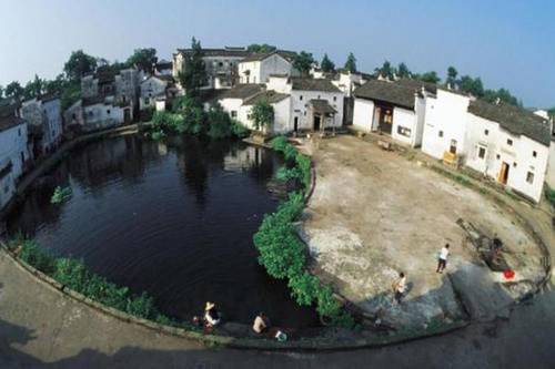
[[[465,164],[539,202],[549,158],[544,119],[516,106],[471,101]]]

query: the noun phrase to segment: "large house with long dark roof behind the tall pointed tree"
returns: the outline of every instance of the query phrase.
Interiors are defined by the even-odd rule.
[[[202,49],[202,60],[206,70],[206,84],[202,89],[229,89],[236,83],[238,63],[250,53],[245,48]],[[185,55],[192,53],[192,49],[178,49],[173,53],[173,78],[178,80],[183,71]]]

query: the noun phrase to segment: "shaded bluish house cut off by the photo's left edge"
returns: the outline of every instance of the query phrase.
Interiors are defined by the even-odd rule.
[[[31,161],[27,145],[27,122],[18,106],[8,99],[0,101],[0,209],[16,193],[16,185]]]

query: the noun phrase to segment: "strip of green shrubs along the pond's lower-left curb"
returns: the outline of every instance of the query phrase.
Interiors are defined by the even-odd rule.
[[[90,271],[82,259],[56,257],[52,253],[44,250],[37,243],[26,239],[21,235],[12,239],[8,244],[8,248],[18,250],[21,260],[92,300],[140,318],[172,326],[183,326],[160,314],[152,297],[148,296],[147,293],[132,295],[128,287],[120,287],[105,277]]]

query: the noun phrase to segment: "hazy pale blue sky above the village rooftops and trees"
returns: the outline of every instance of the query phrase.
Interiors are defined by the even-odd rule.
[[[0,84],[54,78],[77,49],[122,61],[153,47],[171,59],[195,35],[205,48],[327,52],[341,65],[353,51],[367,72],[385,59],[442,78],[454,65],[527,106],[553,106],[554,14],[553,0],[0,0]]]

